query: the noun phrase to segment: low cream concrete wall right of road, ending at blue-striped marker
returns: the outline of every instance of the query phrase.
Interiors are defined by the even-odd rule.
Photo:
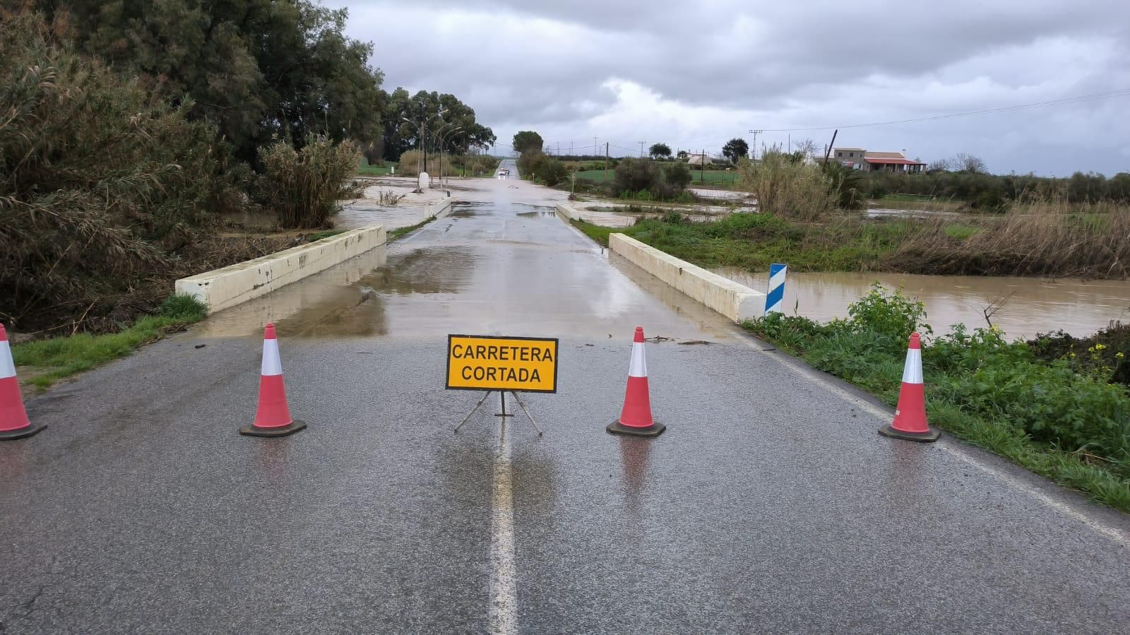
[[[624,234],[610,234],[608,246],[644,271],[734,322],[753,320],[765,313],[765,294],[729,278],[679,260]]]

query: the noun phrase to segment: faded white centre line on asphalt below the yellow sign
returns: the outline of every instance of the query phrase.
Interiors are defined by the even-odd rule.
[[[505,395],[503,397],[505,399]],[[518,633],[518,592],[514,573],[514,497],[511,487],[510,435],[499,420],[498,452],[490,495],[490,633]]]

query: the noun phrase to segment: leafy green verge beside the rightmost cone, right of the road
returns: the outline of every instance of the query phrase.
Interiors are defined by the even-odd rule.
[[[906,336],[924,313],[895,298],[872,290],[850,320],[827,324],[774,314],[745,327],[896,406]],[[928,341],[922,358],[930,425],[1130,512],[1130,394],[1109,369],[1035,358],[988,329]]]

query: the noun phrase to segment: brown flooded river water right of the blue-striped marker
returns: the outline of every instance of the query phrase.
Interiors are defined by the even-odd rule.
[[[714,270],[731,280],[765,292],[768,273],[733,268]],[[980,276],[912,276],[902,273],[789,272],[784,312],[812,320],[846,318],[847,305],[879,281],[903,287],[903,293],[925,303],[927,321],[935,332],[962,322],[971,329],[985,327],[985,310],[1002,303],[992,323],[1009,338],[1031,338],[1062,329],[1087,336],[1111,320],[1130,320],[1130,281],[1074,278],[1001,278]]]

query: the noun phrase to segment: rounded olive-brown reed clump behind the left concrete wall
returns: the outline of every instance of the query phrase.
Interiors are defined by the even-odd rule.
[[[277,141],[262,148],[260,156],[259,197],[278,214],[282,227],[329,227],[340,209],[338,201],[356,190],[353,175],[359,156],[351,143],[311,137],[295,150],[289,142]]]

